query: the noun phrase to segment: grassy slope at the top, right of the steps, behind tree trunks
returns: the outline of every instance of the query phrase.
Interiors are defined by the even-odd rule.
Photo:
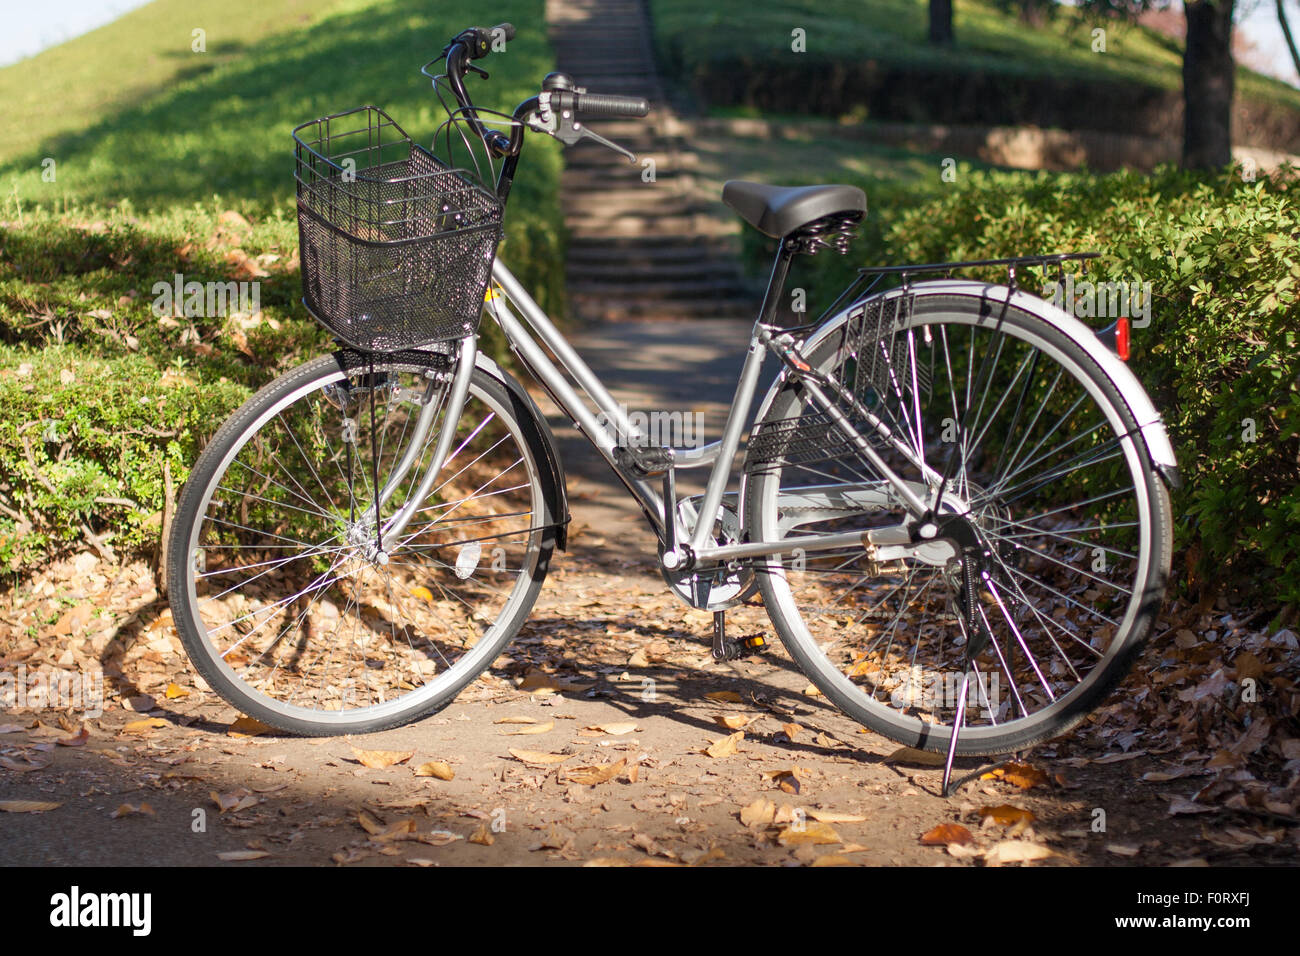
[[[1166,90],[1182,87],[1182,47],[1150,30],[1106,26],[1106,52],[1092,52],[1092,23],[1062,9],[1041,29],[979,0],[954,4],[957,46],[940,52],[926,40],[926,0],[650,0],[660,51],[685,62],[714,56],[788,55],[792,30],[806,34],[810,56],[878,60],[1022,75],[1135,81]],[[1238,70],[1238,95],[1300,108],[1300,91]]]

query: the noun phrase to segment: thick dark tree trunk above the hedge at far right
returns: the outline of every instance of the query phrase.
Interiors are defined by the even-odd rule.
[[[1232,161],[1232,3],[1184,4],[1183,165],[1188,169],[1219,169]]]

